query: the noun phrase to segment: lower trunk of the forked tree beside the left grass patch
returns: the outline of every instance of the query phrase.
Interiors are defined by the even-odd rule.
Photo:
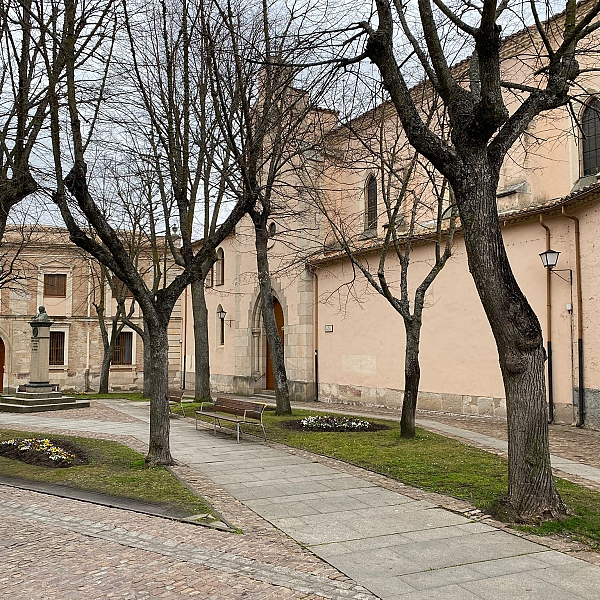
[[[146,322],[150,341],[150,442],[146,463],[175,464],[169,447],[169,339],[168,319],[162,323]],[[146,373],[144,373],[146,375]],[[144,377],[145,379],[145,377]]]

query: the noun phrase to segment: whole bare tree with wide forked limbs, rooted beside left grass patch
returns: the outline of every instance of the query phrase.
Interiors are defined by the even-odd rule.
[[[192,244],[194,206],[189,194],[192,172],[190,161],[195,156],[194,140],[190,135],[192,114],[190,106],[193,102],[192,90],[197,87],[197,83],[192,80],[193,70],[189,55],[190,28],[196,22],[190,16],[191,7],[185,1],[177,6],[167,6],[164,2],[159,2],[131,13],[128,6],[123,4],[123,12],[119,14],[116,13],[116,6],[111,8],[114,9],[112,12],[108,9],[102,12],[104,25],[102,30],[98,28],[96,33],[95,51],[98,52],[98,48],[102,47],[107,60],[103,71],[96,74],[95,93],[90,91],[93,86],[90,82],[90,74],[86,73],[87,102],[82,104],[83,73],[79,70],[78,56],[81,54],[81,47],[77,35],[76,5],[73,0],[65,1],[66,42],[63,43],[63,48],[66,64],[66,109],[73,162],[65,176],[63,165],[66,161],[60,135],[61,107],[58,102],[51,102],[52,141],[57,180],[57,190],[53,199],[69,229],[71,240],[110,269],[127,286],[143,311],[150,348],[150,369],[147,375],[151,382],[150,443],[147,462],[173,464],[169,448],[167,336],[169,320],[182,291],[200,276],[202,265],[213,255],[217,246],[245,214],[245,206],[243,202],[230,206],[228,216],[219,222],[214,234],[206,238],[203,245],[195,250]],[[115,48],[116,38],[113,32],[119,22],[125,23],[129,38],[128,50],[122,46],[118,48],[123,53],[122,58],[120,57],[121,65],[126,65],[134,73],[133,81],[129,80],[127,93],[129,97],[133,97],[130,106],[137,118],[129,120],[129,123],[133,124],[129,131],[134,128],[139,133],[141,115],[144,115],[148,132],[146,139],[150,144],[148,153],[150,164],[155,174],[164,177],[165,189],[167,186],[169,189],[167,196],[169,203],[164,206],[161,201],[163,212],[160,222],[164,228],[164,239],[170,251],[171,261],[175,263],[177,270],[169,269],[167,272],[163,266],[162,285],[158,289],[147,281],[145,273],[140,272],[131,259],[114,221],[100,210],[86,162],[89,140],[99,135],[95,128],[100,125],[94,121],[93,115],[105,108],[104,105],[110,95],[107,82],[111,75],[110,57]],[[154,27],[155,25],[157,28]],[[142,60],[143,52],[138,44],[152,46],[154,43],[159,44],[157,58],[160,60],[156,62]],[[148,85],[153,75],[157,79],[152,82],[152,85]],[[117,86],[119,81],[115,80],[111,83]],[[161,94],[165,88],[161,87],[160,83],[167,86],[171,98],[166,107],[161,104]],[[90,96],[92,96],[91,100]],[[129,116],[122,110],[122,99],[119,108],[121,109],[119,118],[122,123]],[[163,109],[165,112],[162,112]],[[82,115],[87,118],[82,119]],[[117,122],[113,121],[113,127],[116,126]],[[124,138],[127,138],[127,133],[126,127],[120,131]],[[131,138],[127,141],[131,141]],[[127,160],[125,153],[122,160]],[[82,228],[80,224],[82,218],[93,228],[95,237],[91,237]],[[171,219],[178,224],[180,234],[177,240],[170,228]],[[156,261],[154,265],[156,267]]]

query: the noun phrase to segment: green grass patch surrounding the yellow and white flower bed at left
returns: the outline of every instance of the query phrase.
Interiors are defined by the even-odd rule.
[[[0,441],[15,437],[46,436],[34,432],[0,430]],[[57,441],[72,441],[86,453],[89,464],[49,469],[0,457],[0,474],[138,500],[175,509],[182,515],[212,512],[205,501],[192,494],[167,469],[148,468],[144,456],[127,446],[83,437],[51,437]]]

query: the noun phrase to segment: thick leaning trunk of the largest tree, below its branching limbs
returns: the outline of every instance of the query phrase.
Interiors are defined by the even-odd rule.
[[[559,517],[567,509],[552,478],[542,330],[512,273],[497,216],[497,170],[472,156],[453,181],[469,269],[492,328],[506,393],[509,489],[507,516]]]

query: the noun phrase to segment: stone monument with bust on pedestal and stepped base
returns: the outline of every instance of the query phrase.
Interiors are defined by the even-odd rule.
[[[14,396],[0,396],[0,411],[42,412],[67,408],[86,408],[87,400],[77,400],[53,391],[50,384],[50,327],[52,321],[43,306],[29,321],[31,325],[31,368],[29,383],[21,386]],[[24,388],[24,389],[23,389]]]

